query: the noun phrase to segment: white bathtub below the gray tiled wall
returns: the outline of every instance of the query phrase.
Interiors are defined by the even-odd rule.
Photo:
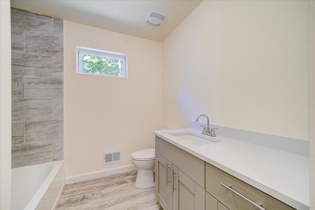
[[[56,209],[64,187],[63,165],[62,160],[12,169],[11,209]]]

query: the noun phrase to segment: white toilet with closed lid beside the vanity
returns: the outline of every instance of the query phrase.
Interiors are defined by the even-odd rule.
[[[155,149],[143,149],[131,154],[132,164],[138,168],[136,188],[154,186]]]

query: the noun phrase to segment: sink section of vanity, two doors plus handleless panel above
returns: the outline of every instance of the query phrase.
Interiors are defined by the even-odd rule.
[[[163,210],[205,209],[204,164],[156,137],[156,197]]]

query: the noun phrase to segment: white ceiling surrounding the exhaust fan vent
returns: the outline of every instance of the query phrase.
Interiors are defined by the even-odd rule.
[[[97,28],[163,41],[202,0],[11,0],[11,6]],[[159,27],[149,11],[166,14]]]

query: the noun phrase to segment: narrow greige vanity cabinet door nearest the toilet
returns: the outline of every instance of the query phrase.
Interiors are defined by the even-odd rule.
[[[156,151],[156,197],[163,210],[172,210],[171,167],[172,163]]]

